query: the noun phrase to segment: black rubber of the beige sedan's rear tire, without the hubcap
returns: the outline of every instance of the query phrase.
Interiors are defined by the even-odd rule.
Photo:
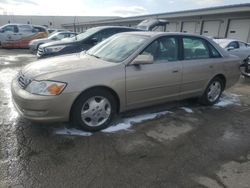
[[[220,84],[220,87],[221,87],[221,90],[219,92],[219,95],[218,97],[216,97],[215,100],[211,100],[209,99],[209,91],[210,91],[210,86],[214,83],[219,83]],[[224,90],[224,87],[225,87],[225,83],[219,78],[219,77],[215,77],[213,78],[209,83],[208,83],[208,86],[205,90],[205,92],[203,93],[203,95],[201,96],[200,98],[200,103],[203,104],[203,105],[207,105],[207,106],[211,106],[211,105],[214,105],[215,103],[217,103],[221,97],[221,94]]]

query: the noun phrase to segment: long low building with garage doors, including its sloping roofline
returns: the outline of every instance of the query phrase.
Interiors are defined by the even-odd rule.
[[[170,24],[166,27],[168,32],[194,33],[250,42],[250,3],[101,21],[85,21],[76,24],[75,27],[77,30],[86,30],[101,25],[135,27],[141,21],[149,18],[169,20]],[[73,28],[72,22],[62,26],[67,29]]]

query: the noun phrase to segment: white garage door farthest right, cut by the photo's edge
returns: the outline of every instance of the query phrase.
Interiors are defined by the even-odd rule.
[[[248,42],[249,31],[250,19],[231,20],[229,23],[227,38]]]

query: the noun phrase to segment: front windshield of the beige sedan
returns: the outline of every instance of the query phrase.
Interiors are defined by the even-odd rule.
[[[139,35],[115,35],[87,51],[88,55],[109,62],[122,62],[137,50],[148,37]]]

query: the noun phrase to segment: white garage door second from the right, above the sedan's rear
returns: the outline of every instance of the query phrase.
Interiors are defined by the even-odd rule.
[[[202,35],[219,37],[220,21],[204,21]]]

